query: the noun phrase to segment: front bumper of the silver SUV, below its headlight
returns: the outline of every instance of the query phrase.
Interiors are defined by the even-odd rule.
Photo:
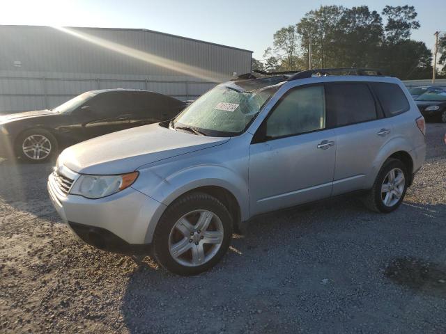
[[[123,241],[125,248],[150,244],[165,209],[165,205],[132,187],[96,200],[63,195],[54,175],[49,175],[47,187],[56,212],[71,230],[87,243],[107,250],[113,250],[109,248],[119,244],[117,240]]]

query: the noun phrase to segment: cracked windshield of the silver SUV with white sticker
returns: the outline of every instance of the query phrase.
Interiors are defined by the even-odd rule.
[[[243,92],[217,86],[180,113],[174,127],[192,127],[206,136],[236,136],[245,131],[277,89]]]

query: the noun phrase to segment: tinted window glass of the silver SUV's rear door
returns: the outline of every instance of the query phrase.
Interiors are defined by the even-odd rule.
[[[334,116],[335,126],[376,120],[376,105],[367,84],[328,84],[327,109]]]

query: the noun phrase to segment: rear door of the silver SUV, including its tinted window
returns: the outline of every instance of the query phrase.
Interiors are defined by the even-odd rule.
[[[391,137],[392,127],[369,84],[336,82],[325,88],[337,143],[332,191],[335,196],[364,189],[380,148]]]

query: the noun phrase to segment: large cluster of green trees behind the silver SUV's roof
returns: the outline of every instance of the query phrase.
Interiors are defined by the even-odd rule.
[[[420,28],[416,17],[415,8],[407,5],[385,6],[381,14],[368,6],[321,6],[274,34],[265,68],[307,69],[311,38],[313,68],[378,67],[401,79],[426,79],[431,51],[410,40],[411,31]],[[446,55],[442,57],[445,62]]]

